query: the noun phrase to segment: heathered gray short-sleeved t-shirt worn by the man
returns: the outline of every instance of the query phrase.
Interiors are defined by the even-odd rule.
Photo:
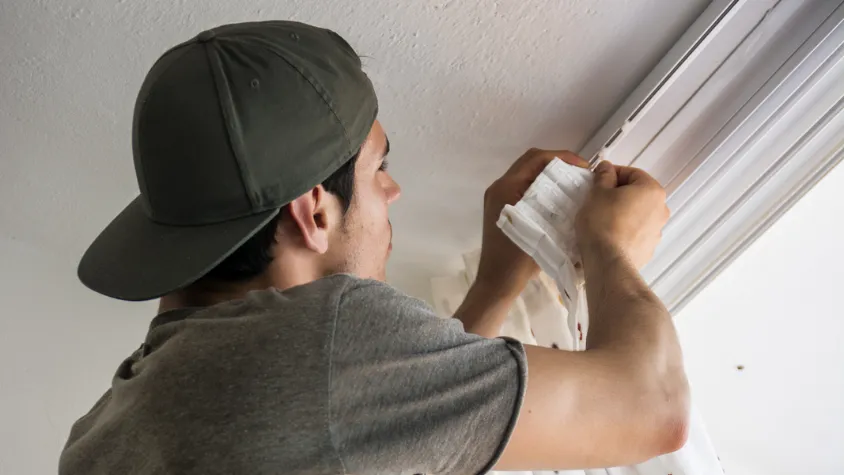
[[[518,341],[335,275],[156,317],[59,473],[484,473],[526,379]]]

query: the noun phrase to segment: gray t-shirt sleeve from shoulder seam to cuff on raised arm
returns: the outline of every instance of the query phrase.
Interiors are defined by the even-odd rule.
[[[504,450],[524,397],[524,347],[464,332],[373,281],[344,292],[329,425],[346,473],[476,474]]]

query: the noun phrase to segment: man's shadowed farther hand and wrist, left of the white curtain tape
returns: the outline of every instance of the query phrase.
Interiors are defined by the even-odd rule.
[[[539,267],[501,232],[496,222],[504,205],[516,204],[555,157],[582,168],[589,162],[566,150],[532,148],[522,155],[484,194],[484,227],[477,283],[500,296],[515,298]]]

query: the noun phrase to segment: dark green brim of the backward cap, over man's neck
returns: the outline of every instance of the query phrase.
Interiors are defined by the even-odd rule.
[[[135,198],[82,256],[79,279],[122,300],[150,300],[183,288],[219,264],[278,209],[202,226],[150,220]]]

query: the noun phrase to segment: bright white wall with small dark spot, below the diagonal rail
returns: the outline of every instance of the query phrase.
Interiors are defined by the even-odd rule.
[[[677,317],[729,475],[844,473],[842,244],[839,165]]]

